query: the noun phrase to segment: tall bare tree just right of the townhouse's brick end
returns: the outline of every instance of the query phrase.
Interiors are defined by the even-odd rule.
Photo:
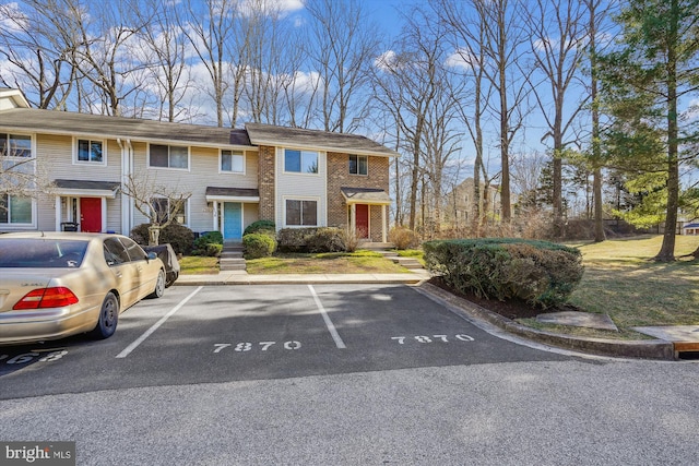
[[[418,193],[423,225],[429,217],[434,230],[439,229],[446,168],[461,148],[454,95],[463,83],[453,82],[453,74],[446,68],[446,35],[447,29],[428,10],[416,9],[406,15],[398,50],[377,61],[375,96],[392,115],[398,139],[412,155],[411,229],[416,226]]]

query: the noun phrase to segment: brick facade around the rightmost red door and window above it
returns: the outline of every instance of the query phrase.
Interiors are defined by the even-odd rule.
[[[374,188],[389,192],[389,157],[368,157],[367,175],[351,175],[348,154],[328,153],[328,226],[347,228],[350,214],[341,188]],[[369,206],[370,239],[381,241],[380,205]]]

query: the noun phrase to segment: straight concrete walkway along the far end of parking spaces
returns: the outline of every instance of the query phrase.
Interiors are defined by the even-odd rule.
[[[202,285],[291,285],[291,284],[417,284],[429,279],[429,272],[415,270],[403,274],[280,274],[251,275],[245,271],[220,272],[215,275],[180,275],[175,286]]]

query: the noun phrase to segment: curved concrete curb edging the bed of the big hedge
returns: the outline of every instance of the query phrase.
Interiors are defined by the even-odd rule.
[[[604,338],[585,338],[569,335],[560,335],[538,331],[518,324],[498,313],[488,311],[478,304],[454,296],[429,283],[419,285],[425,292],[443,300],[455,307],[471,319],[486,321],[508,333],[521,336],[537,343],[572,351],[590,353],[600,356],[613,356],[619,358],[641,358],[675,360],[675,349],[671,342],[663,339],[649,340],[616,340]]]

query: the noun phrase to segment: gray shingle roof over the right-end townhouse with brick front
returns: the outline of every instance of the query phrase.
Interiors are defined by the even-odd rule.
[[[398,156],[394,151],[357,134],[330,133],[260,123],[246,123],[245,129],[250,135],[250,142],[254,145],[285,145],[350,154]]]

